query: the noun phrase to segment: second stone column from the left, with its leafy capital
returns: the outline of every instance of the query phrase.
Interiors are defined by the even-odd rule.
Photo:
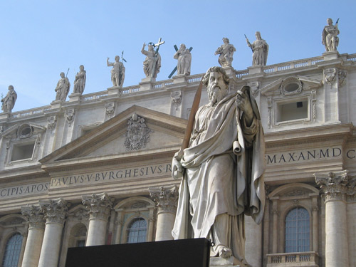
[[[57,267],[68,205],[61,198],[39,201],[39,204],[45,213],[46,227],[38,267]]]

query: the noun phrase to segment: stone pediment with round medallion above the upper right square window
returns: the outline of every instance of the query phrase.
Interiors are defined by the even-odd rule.
[[[315,90],[323,85],[323,80],[309,78],[305,76],[289,76],[286,78],[279,78],[273,83],[270,83],[260,89],[262,95],[296,95],[302,93],[303,90]]]

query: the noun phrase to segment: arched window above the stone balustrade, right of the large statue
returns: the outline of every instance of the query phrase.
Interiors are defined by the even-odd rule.
[[[296,207],[286,216],[286,253],[310,251],[310,219],[306,209]]]

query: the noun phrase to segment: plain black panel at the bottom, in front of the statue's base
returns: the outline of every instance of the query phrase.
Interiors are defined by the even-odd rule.
[[[66,267],[209,267],[210,242],[182,239],[68,248]]]

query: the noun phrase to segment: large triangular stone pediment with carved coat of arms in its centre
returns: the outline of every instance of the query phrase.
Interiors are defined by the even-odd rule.
[[[56,162],[71,165],[152,157],[179,149],[186,125],[187,120],[133,105],[39,162],[46,169]]]

